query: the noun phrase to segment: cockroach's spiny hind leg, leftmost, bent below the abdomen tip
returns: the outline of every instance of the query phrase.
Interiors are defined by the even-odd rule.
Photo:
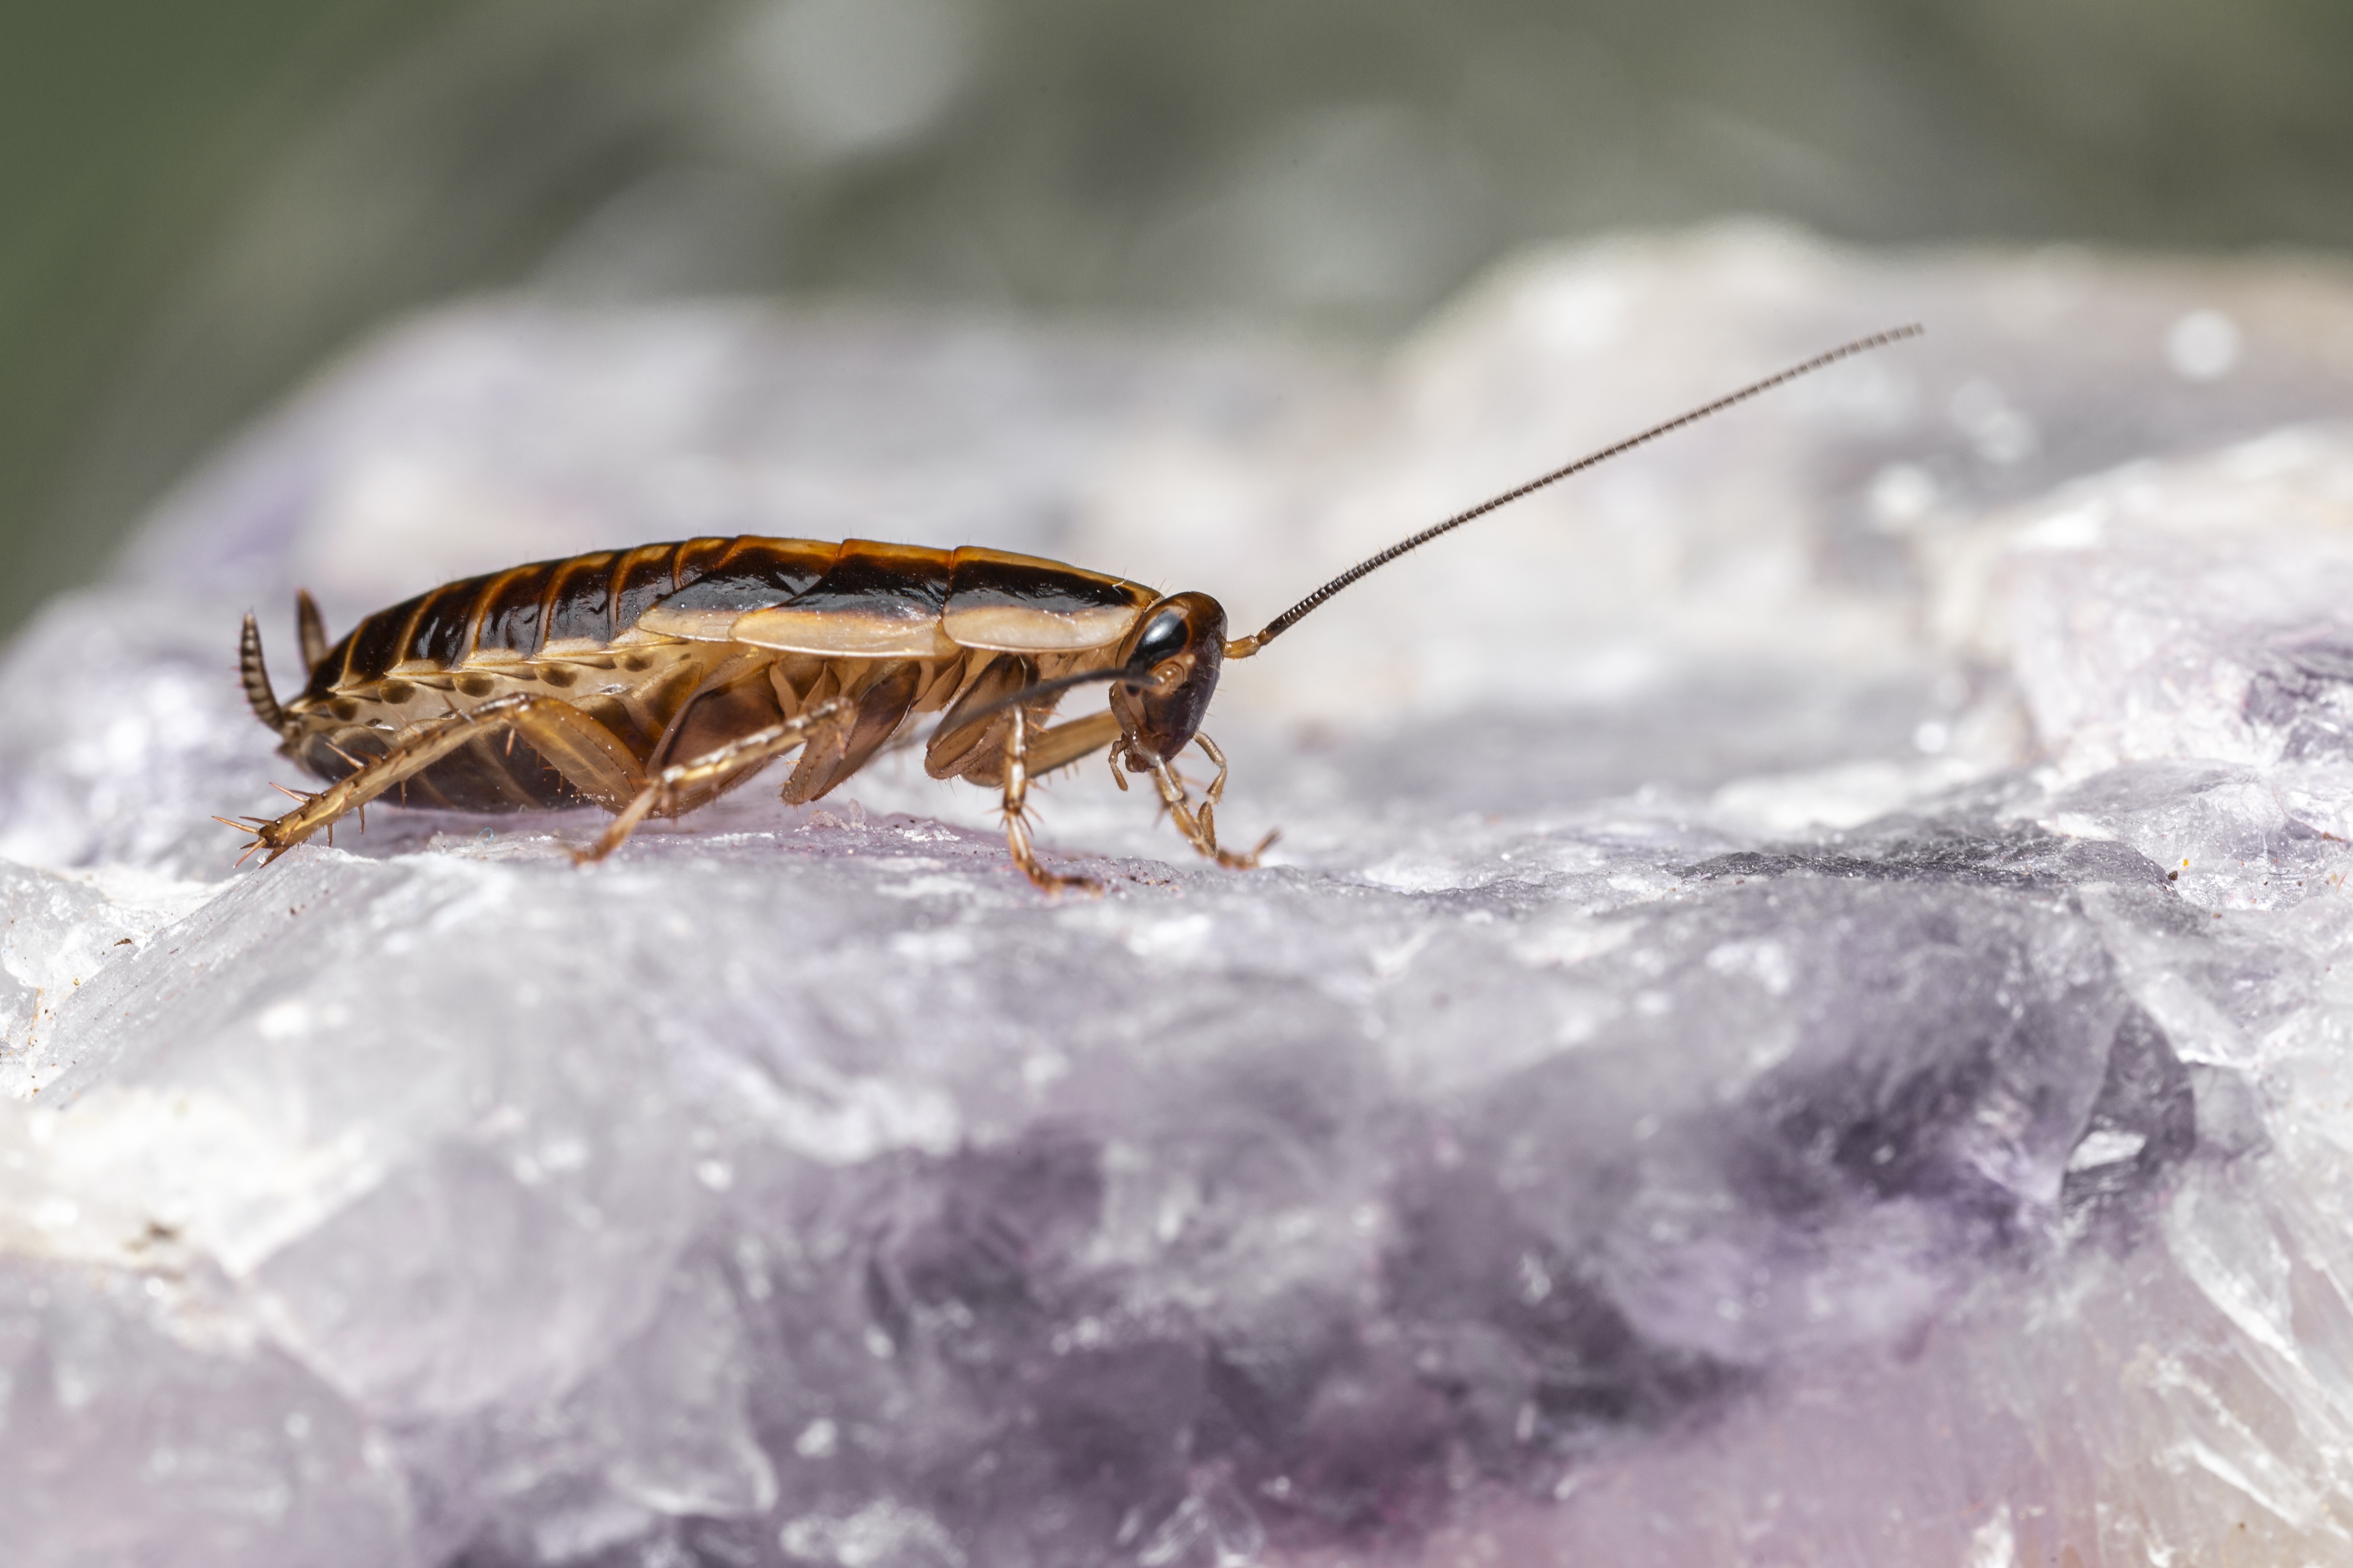
[[[638,759],[609,729],[569,703],[525,691],[501,696],[466,712],[447,712],[412,724],[381,757],[304,797],[304,804],[278,820],[216,820],[231,827],[249,827],[254,842],[247,844],[247,853],[268,849],[271,853],[264,860],[268,865],[320,827],[332,827],[346,811],[358,811],[449,752],[501,729],[508,736],[522,736],[572,788],[607,811],[619,809],[631,792],[645,785],[645,771],[638,766]]]

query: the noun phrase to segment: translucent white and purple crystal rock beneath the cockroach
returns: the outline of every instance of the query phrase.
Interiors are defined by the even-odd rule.
[[[268,811],[264,611],[687,534],[1242,628],[1099,762]],[[456,308],[0,675],[7,1561],[2353,1563],[2353,280],[1767,228],[1381,360]],[[1075,710],[1075,701],[1066,705]]]

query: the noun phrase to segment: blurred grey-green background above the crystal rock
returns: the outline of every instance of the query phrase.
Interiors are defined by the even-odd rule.
[[[2348,0],[0,0],[0,625],[384,317],[1381,334],[1499,252],[2353,247]]]

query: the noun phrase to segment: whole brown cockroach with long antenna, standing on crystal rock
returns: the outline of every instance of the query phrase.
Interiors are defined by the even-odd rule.
[[[1252,867],[1217,842],[1226,757],[1200,733],[1217,675],[1301,616],[1440,534],[1593,468],[1631,447],[1849,355],[1918,336],[1857,339],[1529,480],[1358,562],[1252,637],[1226,639],[1205,592],[1158,595],[1125,578],[1002,550],[925,550],[864,538],[689,538],[574,555],[466,578],[367,616],[332,649],[299,595],[311,684],[280,703],[245,616],[238,665],[254,717],[280,750],[327,780],[275,820],[242,818],[268,858],[386,790],[449,811],[534,811],[593,802],[612,825],[581,860],[619,849],[647,816],[680,816],[800,752],[786,802],[812,802],[866,766],[918,715],[932,778],[1002,792],[1005,844],[1033,884],[1031,780],[1111,750],[1111,773],[1146,773],[1202,856]],[[1108,708],[1052,724],[1073,686]],[[1195,804],[1176,755],[1200,745],[1217,776]]]

